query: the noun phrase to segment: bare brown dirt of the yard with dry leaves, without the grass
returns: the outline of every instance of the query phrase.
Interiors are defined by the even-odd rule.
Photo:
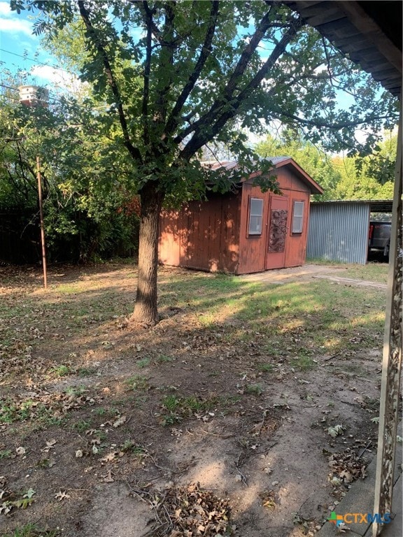
[[[54,272],[51,283],[99,278],[134,301],[127,268],[78,272]],[[355,285],[325,266],[243,278]],[[24,274],[0,298],[35,296],[38,281]],[[145,330],[94,317],[80,337],[54,332],[51,317],[47,332],[32,324],[37,340],[21,350],[13,382],[0,382],[10,407],[34,401],[26,420],[0,426],[0,506],[27,500],[3,503],[0,535],[27,522],[66,537],[314,535],[374,457],[381,349],[318,355],[314,371],[280,359],[275,373],[257,372],[259,345],[229,345],[225,322],[206,331],[197,315],[171,310]],[[49,361],[72,373],[47,376]]]

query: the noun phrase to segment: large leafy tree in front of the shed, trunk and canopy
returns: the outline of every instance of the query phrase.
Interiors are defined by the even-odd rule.
[[[302,127],[324,148],[341,150],[355,146],[358,124],[376,132],[395,122],[389,94],[280,2],[12,0],[11,6],[41,10],[36,32],[52,40],[71,24],[82,29],[80,77],[118,118],[117,136],[141,199],[135,322],[155,324],[158,318],[164,200],[204,196],[207,185],[224,191],[255,171],[243,129],[261,134],[262,120],[278,120]],[[337,104],[342,90],[354,96],[349,110]],[[369,136],[368,145],[375,139]],[[211,141],[237,155],[238,175],[200,165],[199,154]],[[276,189],[270,163],[258,166],[263,173],[257,182]]]

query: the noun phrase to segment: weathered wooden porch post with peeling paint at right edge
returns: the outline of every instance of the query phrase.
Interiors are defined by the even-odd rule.
[[[392,513],[393,472],[402,371],[402,98],[400,99],[397,144],[374,502],[374,514],[379,513],[381,517],[386,513]],[[379,536],[382,527],[379,522],[374,522],[372,536]]]

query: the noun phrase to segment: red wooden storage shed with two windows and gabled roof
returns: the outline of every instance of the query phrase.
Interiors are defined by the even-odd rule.
[[[253,176],[239,190],[210,194],[160,219],[160,263],[247,274],[304,264],[311,194],[323,189],[290,157],[270,159],[282,195]],[[230,173],[236,162],[224,162]]]

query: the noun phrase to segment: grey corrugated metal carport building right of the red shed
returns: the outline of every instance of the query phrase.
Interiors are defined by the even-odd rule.
[[[391,212],[391,200],[311,203],[306,257],[365,265],[370,215]]]

